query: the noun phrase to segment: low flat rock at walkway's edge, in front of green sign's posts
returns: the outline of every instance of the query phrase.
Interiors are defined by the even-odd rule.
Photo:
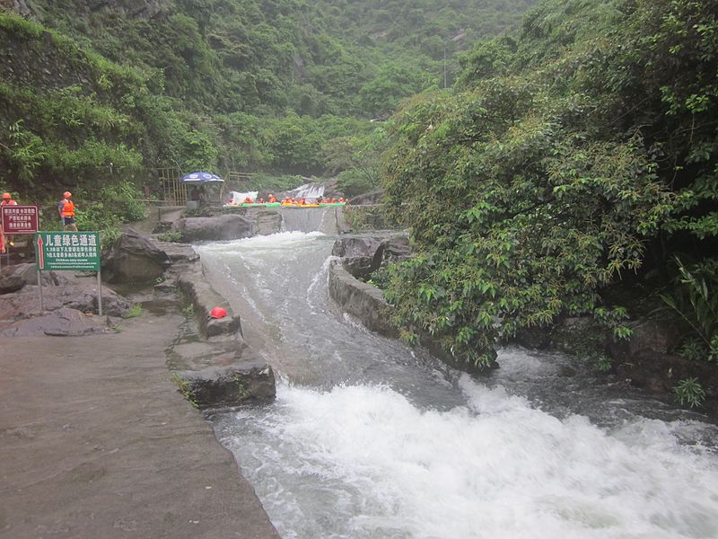
[[[34,337],[54,335],[79,337],[109,331],[107,319],[88,316],[76,309],[61,307],[48,314],[19,320],[0,331],[2,337]]]

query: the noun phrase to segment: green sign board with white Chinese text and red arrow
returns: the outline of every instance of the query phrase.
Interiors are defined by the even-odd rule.
[[[100,271],[99,232],[40,232],[35,234],[38,270]]]

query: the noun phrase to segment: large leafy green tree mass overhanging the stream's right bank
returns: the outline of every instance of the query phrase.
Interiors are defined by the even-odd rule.
[[[566,314],[626,338],[607,290],[714,260],[717,42],[705,3],[549,0],[409,102],[385,154],[418,252],[386,292],[407,335],[475,364]]]

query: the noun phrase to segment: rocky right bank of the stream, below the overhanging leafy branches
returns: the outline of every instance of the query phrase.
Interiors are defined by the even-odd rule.
[[[329,269],[330,296],[366,328],[397,337],[398,331],[390,324],[390,305],[381,290],[366,281],[388,262],[411,256],[406,235],[391,231],[346,235],[337,240],[333,254],[339,258]],[[632,330],[632,338],[617,340],[591,319],[564,318],[552,328],[521,331],[512,342],[528,349],[572,355],[598,353],[604,359],[597,363],[597,369],[603,370],[605,376],[673,405],[677,404],[676,384],[695,376],[705,391],[705,402],[699,411],[718,418],[718,369],[713,364],[690,361],[676,353],[682,332],[675,321],[661,318],[659,313],[636,318],[627,325]],[[423,336],[421,343],[453,367],[472,370],[467,365],[456,364],[428,336]]]

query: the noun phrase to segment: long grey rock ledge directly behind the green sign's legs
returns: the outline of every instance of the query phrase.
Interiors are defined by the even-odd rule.
[[[45,311],[69,308],[83,313],[97,313],[96,285],[68,285],[65,287],[43,287],[42,301]],[[102,313],[123,316],[132,304],[107,287],[102,287]],[[18,320],[36,316],[39,310],[38,287],[23,287],[21,291],[0,296],[0,316],[4,320]]]

